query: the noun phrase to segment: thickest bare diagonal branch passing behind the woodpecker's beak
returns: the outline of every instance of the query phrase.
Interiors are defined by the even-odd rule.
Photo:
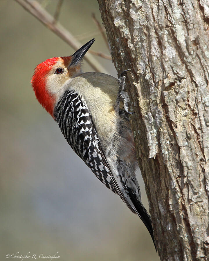
[[[39,21],[41,21],[46,27],[53,31],[56,35],[62,38],[67,44],[69,44],[74,50],[78,50],[82,44],[75,39],[75,37],[66,30],[60,23],[54,24],[54,18],[49,14],[37,1],[29,0],[16,0],[24,9],[30,14],[33,14]],[[91,51],[92,52],[92,51]],[[108,73],[105,68],[90,54],[90,50],[85,54],[84,59],[88,64],[96,71]],[[96,54],[98,55],[98,53]],[[99,53],[101,56],[101,53]]]

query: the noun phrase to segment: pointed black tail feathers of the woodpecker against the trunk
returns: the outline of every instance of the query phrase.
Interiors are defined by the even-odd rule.
[[[157,252],[157,248],[156,248],[156,244],[155,244],[155,240],[154,240],[154,235],[153,235],[153,229],[152,229],[152,220],[150,218],[150,215],[147,213],[147,211],[146,211],[145,207],[142,205],[142,203],[137,200],[134,193],[130,189],[128,189],[128,192],[129,192],[129,197],[130,197],[132,203],[134,204],[134,207],[136,208],[138,216],[140,217],[142,222],[145,224],[146,228],[149,231],[149,234],[152,237],[152,241],[154,243],[154,247],[155,247],[155,250]]]

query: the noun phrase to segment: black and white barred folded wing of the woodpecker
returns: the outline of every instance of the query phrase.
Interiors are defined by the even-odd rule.
[[[108,189],[117,193],[130,208],[102,152],[93,120],[82,96],[68,90],[55,108],[55,118],[75,153],[87,164],[96,177]]]

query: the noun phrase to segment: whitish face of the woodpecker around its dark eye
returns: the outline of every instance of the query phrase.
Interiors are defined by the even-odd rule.
[[[51,94],[58,94],[62,91],[66,81],[73,79],[81,74],[80,63],[76,66],[71,66],[69,69],[64,64],[62,58],[50,70],[46,79],[46,88]]]

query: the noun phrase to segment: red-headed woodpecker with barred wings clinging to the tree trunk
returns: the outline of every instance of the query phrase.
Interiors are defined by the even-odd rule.
[[[83,73],[81,60],[94,41],[71,56],[39,64],[31,84],[71,148],[140,217],[155,245],[152,221],[141,202],[136,179],[139,166],[124,92],[129,70],[118,79],[104,73]]]

